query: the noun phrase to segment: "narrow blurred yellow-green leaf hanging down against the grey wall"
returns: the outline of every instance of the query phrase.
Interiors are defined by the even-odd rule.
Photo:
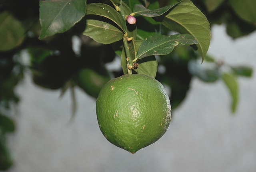
[[[228,90],[232,97],[231,109],[232,109],[232,113],[234,113],[236,111],[236,107],[238,103],[238,83],[236,81],[236,77],[229,73],[223,73],[222,80],[228,87]]]

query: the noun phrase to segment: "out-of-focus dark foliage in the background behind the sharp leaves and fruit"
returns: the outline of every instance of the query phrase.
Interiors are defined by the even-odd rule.
[[[137,1],[140,2],[127,0],[130,3]],[[146,4],[149,9],[156,9],[176,2],[178,0],[149,0]],[[192,2],[206,15],[210,26],[225,24],[226,32],[231,38],[246,36],[256,29],[255,0]],[[84,8],[81,7],[80,10]],[[83,16],[79,15],[78,18]],[[154,20],[141,16],[137,21],[138,36],[142,39],[160,31],[159,23]],[[62,89],[64,93],[68,87],[80,87],[95,98],[106,81],[123,74],[122,69],[108,71],[105,68],[105,64],[112,62],[116,53],[120,55],[121,51],[114,51],[111,45],[94,42],[82,35],[85,27],[83,20],[71,25],[73,27],[67,26],[71,29],[64,33],[39,40],[39,1],[0,0],[0,170],[6,170],[12,165],[12,157],[6,145],[6,134],[14,132],[15,126],[6,109],[18,103],[19,97],[15,88],[22,81],[25,71],[30,71],[34,83],[42,88]],[[161,32],[168,34],[164,26]],[[41,38],[43,37],[44,35],[41,35]],[[76,47],[75,43],[78,43]],[[207,83],[224,81],[232,97],[231,107],[234,112],[238,103],[236,78],[252,75],[250,67],[231,66],[209,56],[201,65],[198,54],[192,51],[191,47],[184,46],[178,46],[169,55],[159,56],[158,66],[161,66],[162,70],[158,70],[156,79],[170,87],[169,96],[173,109],[186,97],[192,77],[198,77]]]

